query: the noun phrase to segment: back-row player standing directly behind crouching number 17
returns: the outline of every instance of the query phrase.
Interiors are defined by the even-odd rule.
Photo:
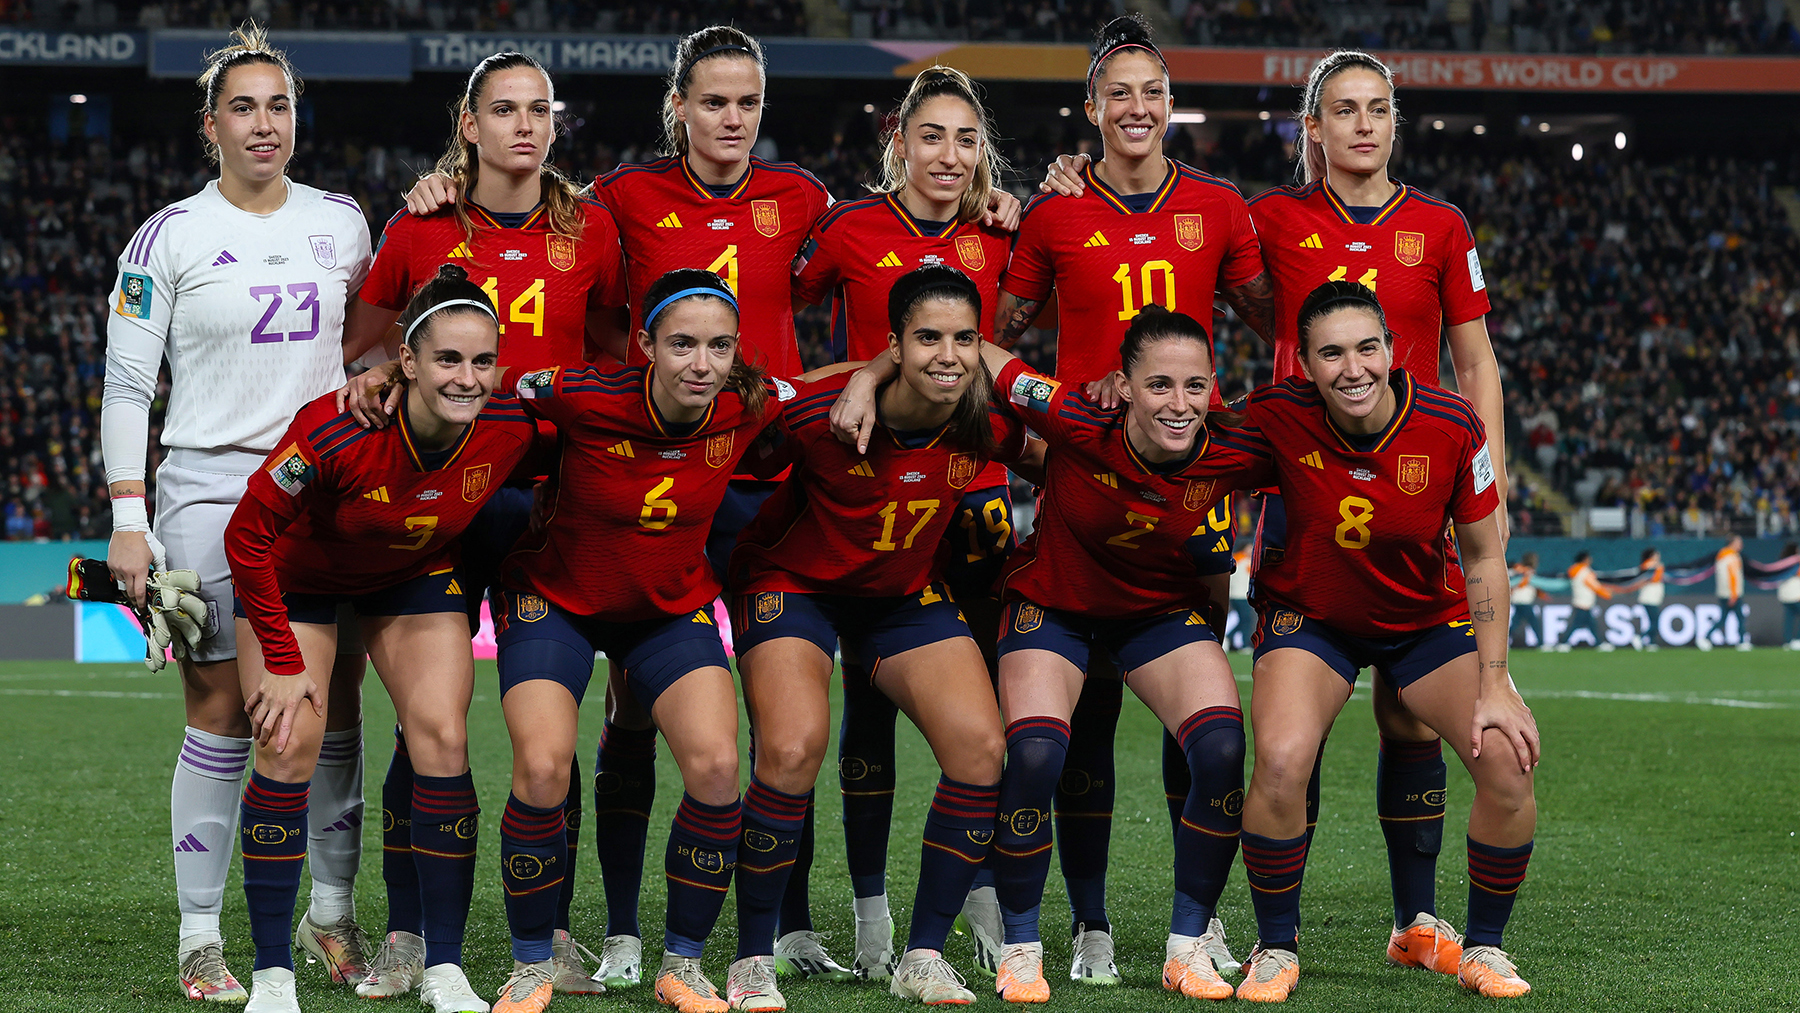
[[[999,297],[1012,236],[983,220],[990,200],[1012,202],[997,189],[1004,169],[988,112],[974,83],[950,67],[932,67],[913,79],[882,146],[882,185],[873,196],[839,202],[796,261],[794,295],[806,302],[832,297],[832,342],[839,362],[887,354],[889,291],[922,264],[950,264],[974,281],[983,306]],[[988,320],[979,322],[988,333]],[[1013,545],[1012,495],[1006,470],[983,468],[959,493],[947,529],[945,583],[994,669],[999,603],[994,579]],[[844,851],[855,892],[859,977],[887,977],[893,964],[893,919],[887,910],[887,831],[893,822],[895,718],[898,711],[869,680],[862,659],[844,659],[844,714],[839,729],[839,786],[844,799]],[[979,880],[977,880],[979,883]],[[992,914],[983,918],[979,910]],[[968,910],[977,963],[994,970],[999,950],[992,882],[977,885]],[[781,952],[779,946],[776,950]]]

